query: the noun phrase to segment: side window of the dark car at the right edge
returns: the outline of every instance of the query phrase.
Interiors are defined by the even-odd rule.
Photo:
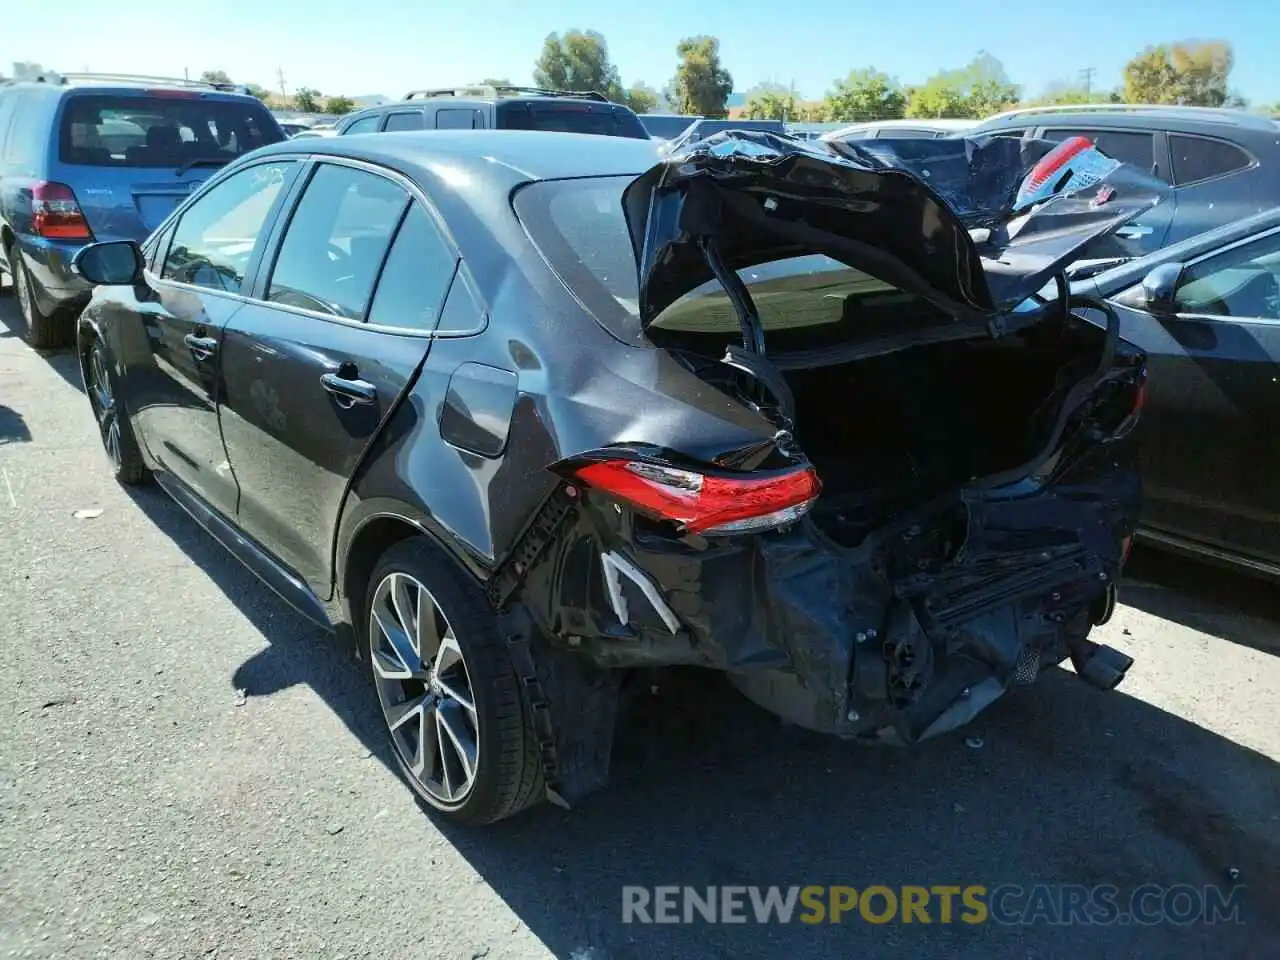
[[[1175,303],[1179,314],[1280,320],[1280,233],[1187,268]]]

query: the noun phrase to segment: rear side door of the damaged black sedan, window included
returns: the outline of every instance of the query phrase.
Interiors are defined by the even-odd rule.
[[[347,484],[430,347],[457,256],[424,198],[316,163],[228,323],[220,408],[238,524],[321,596]]]

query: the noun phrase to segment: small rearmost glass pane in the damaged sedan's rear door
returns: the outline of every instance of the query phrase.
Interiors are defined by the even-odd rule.
[[[457,259],[420,204],[401,224],[378,280],[369,323],[434,330]]]

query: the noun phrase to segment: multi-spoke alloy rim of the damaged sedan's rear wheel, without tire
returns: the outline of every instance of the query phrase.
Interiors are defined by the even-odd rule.
[[[471,677],[453,627],[408,573],[374,591],[369,646],[392,742],[433,804],[461,805],[475,786],[480,727]]]

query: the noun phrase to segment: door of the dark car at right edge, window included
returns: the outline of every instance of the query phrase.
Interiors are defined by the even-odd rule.
[[[1188,264],[1174,311],[1124,308],[1121,335],[1148,357],[1143,524],[1280,559],[1280,230]]]

